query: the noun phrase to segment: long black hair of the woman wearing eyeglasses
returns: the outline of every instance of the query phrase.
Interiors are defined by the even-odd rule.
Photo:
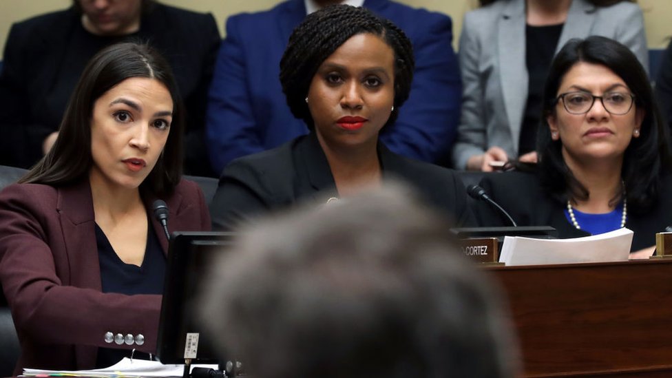
[[[662,120],[647,72],[637,56],[624,45],[603,36],[572,39],[551,64],[543,98],[543,114],[538,129],[539,174],[545,189],[560,202],[568,198],[586,199],[589,193],[567,167],[562,142],[553,140],[547,122],[555,116],[558,88],[576,63],[604,65],[618,75],[635,96],[635,106],[644,111],[640,137],[632,138],[624,152],[621,177],[627,193],[628,211],[645,212],[658,200],[660,176],[669,167],[669,133]],[[620,200],[620,198],[614,198]]]

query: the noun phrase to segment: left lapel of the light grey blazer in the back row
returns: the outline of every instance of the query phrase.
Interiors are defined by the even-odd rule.
[[[514,149],[518,150],[517,135],[521,132],[523,110],[527,101],[527,67],[525,65],[525,1],[509,1],[498,22],[499,69],[512,132]]]

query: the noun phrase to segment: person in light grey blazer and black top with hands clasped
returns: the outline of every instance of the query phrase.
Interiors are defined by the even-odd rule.
[[[541,98],[553,56],[569,39],[601,35],[648,67],[642,10],[619,0],[481,0],[460,36],[463,81],[456,169],[536,162]]]

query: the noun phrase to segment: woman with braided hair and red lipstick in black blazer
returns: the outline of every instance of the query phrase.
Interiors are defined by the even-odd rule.
[[[309,14],[289,39],[280,81],[292,113],[311,132],[231,162],[211,204],[215,227],[315,196],[349,196],[390,177],[418,187],[460,224],[470,221],[452,171],[399,156],[379,141],[381,129],[399,126],[413,65],[406,34],[369,10],[341,4]]]

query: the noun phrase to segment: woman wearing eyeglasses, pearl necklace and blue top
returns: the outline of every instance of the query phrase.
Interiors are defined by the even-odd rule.
[[[481,185],[518,225],[550,225],[561,238],[627,227],[632,251],[651,247],[672,211],[661,119],[647,73],[627,47],[601,36],[573,39],[546,82],[538,170],[487,176]],[[509,225],[487,206],[476,214],[482,225]]]

